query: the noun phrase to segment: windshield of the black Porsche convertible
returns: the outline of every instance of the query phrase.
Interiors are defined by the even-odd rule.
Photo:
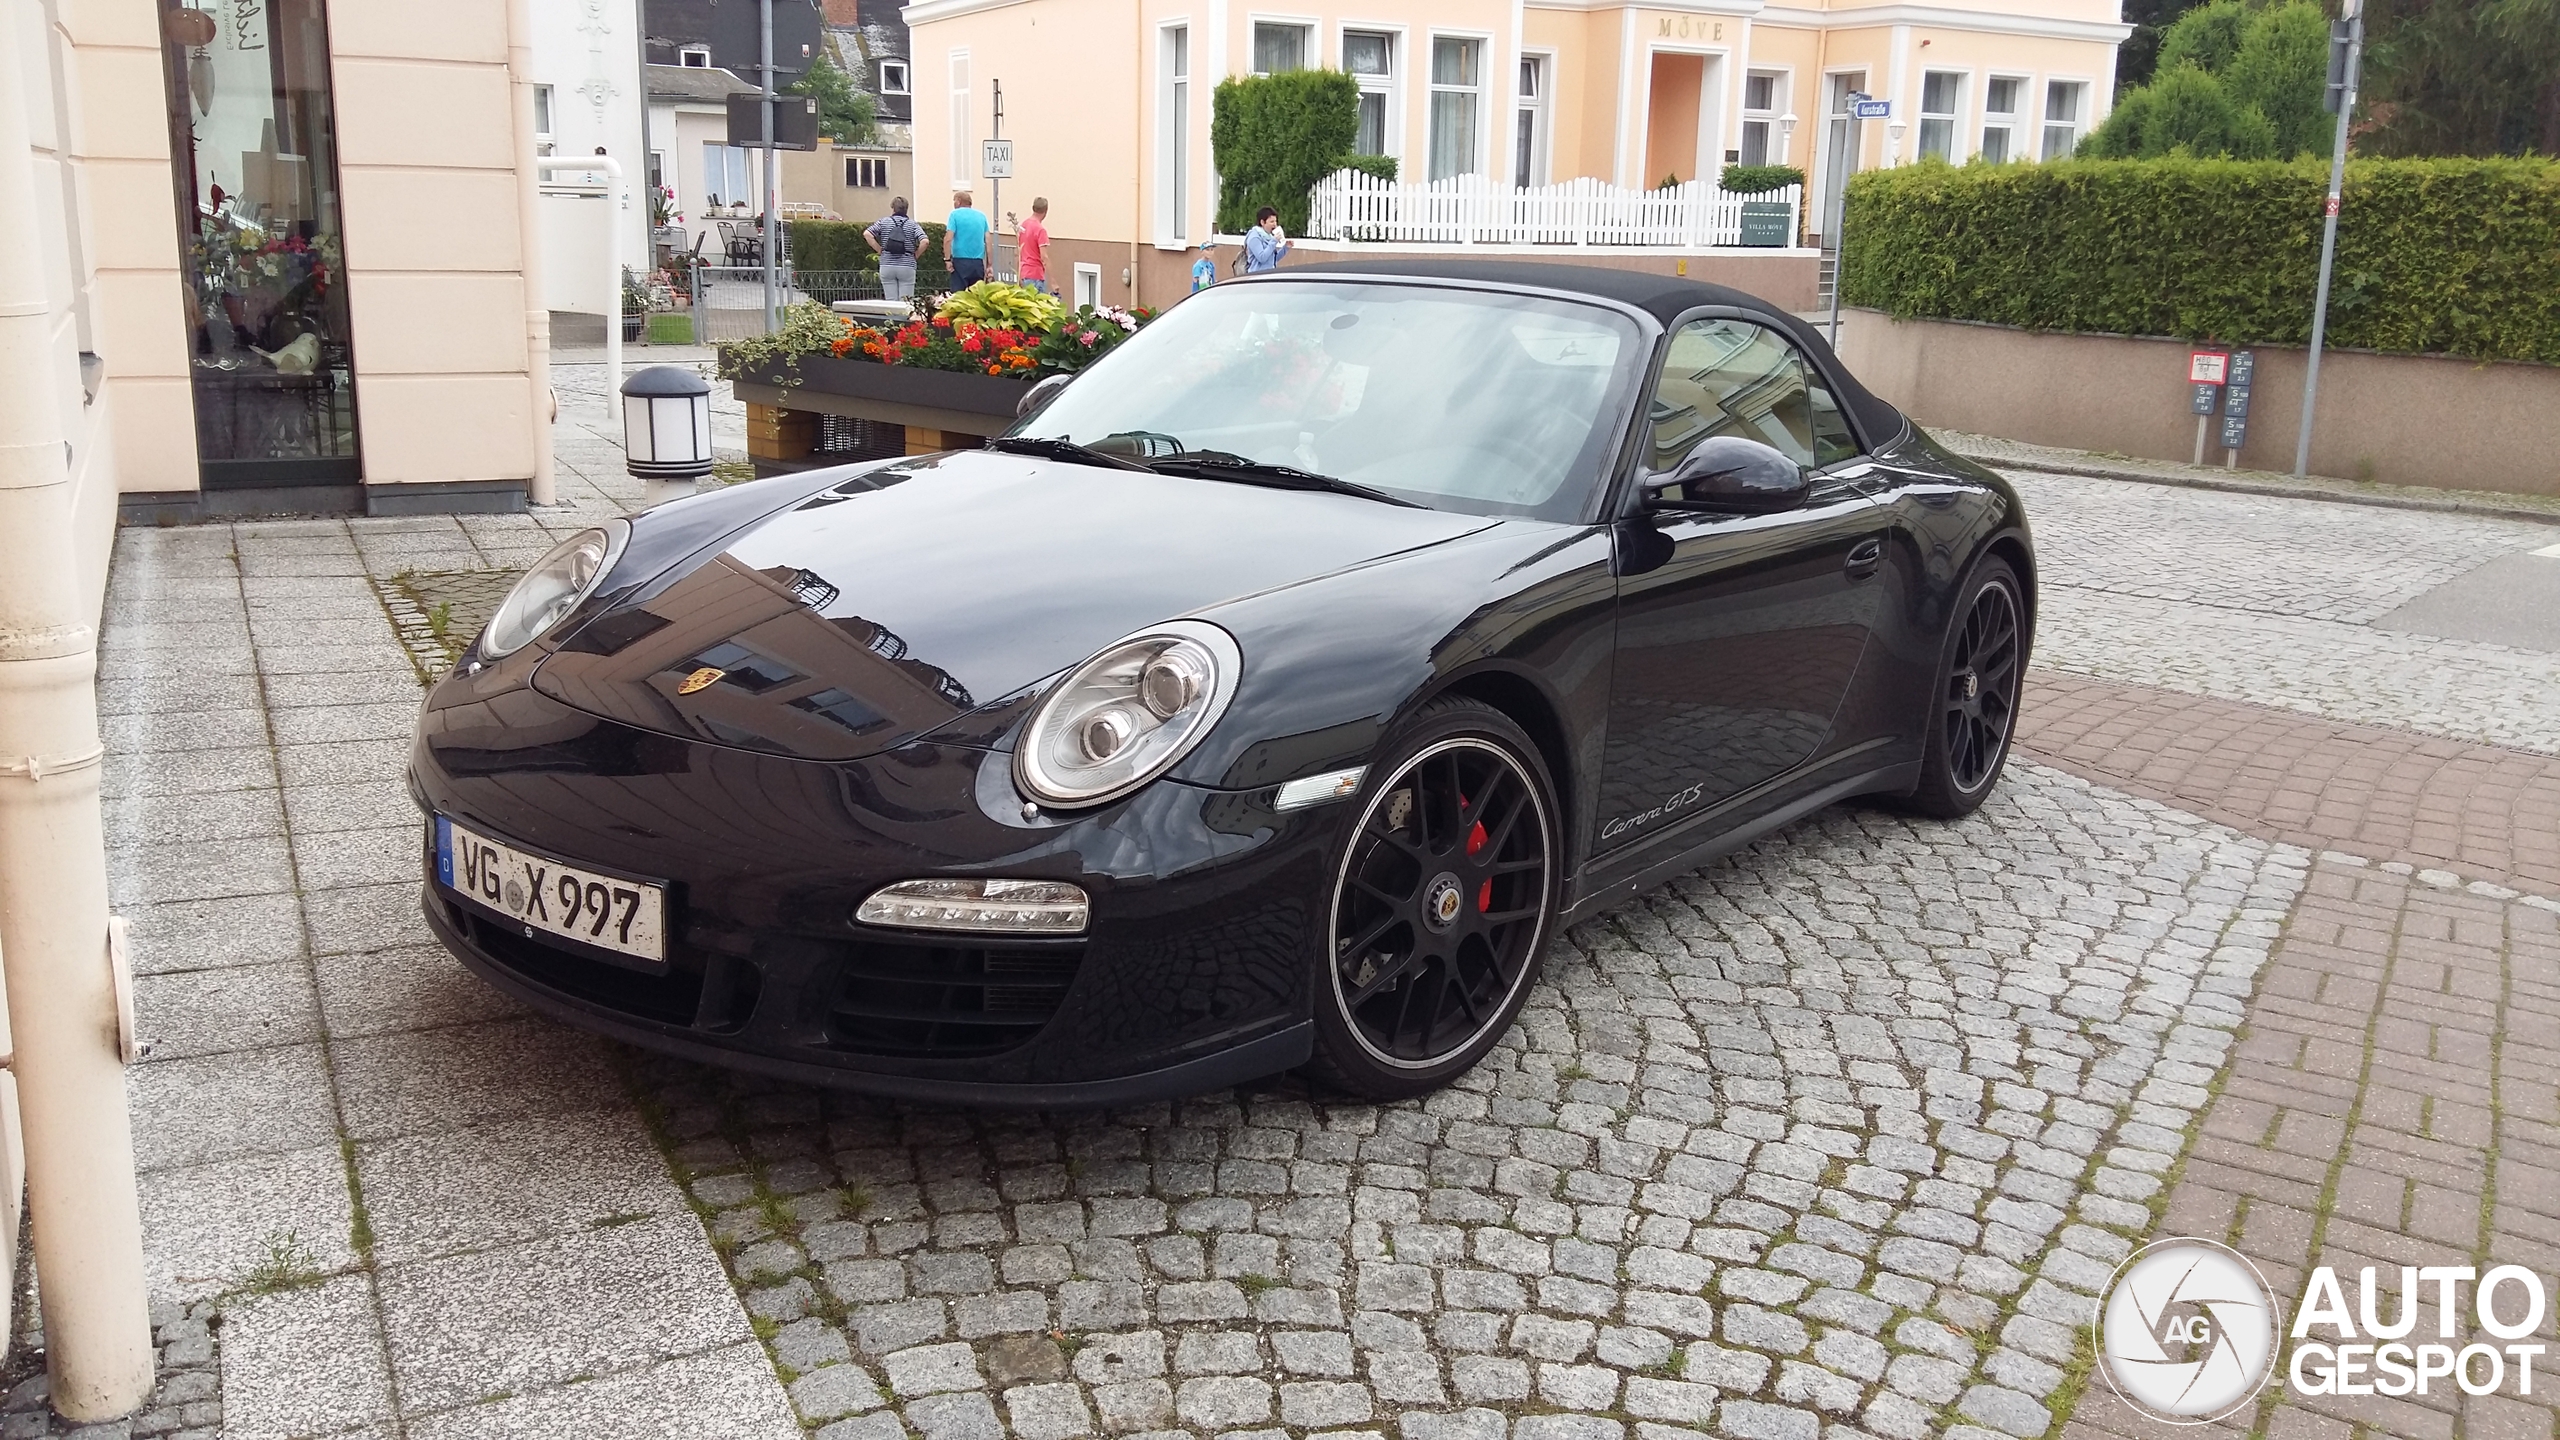
[[[1213,454],[1436,510],[1580,520],[1638,348],[1633,320],[1564,300],[1349,279],[1219,284],[1014,436],[1147,464]]]

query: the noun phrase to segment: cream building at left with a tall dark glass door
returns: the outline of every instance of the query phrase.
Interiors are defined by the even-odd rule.
[[[120,512],[543,497],[535,3],[0,8],[84,574]]]

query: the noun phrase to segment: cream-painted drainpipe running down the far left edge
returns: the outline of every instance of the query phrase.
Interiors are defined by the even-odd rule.
[[[26,74],[0,26],[0,74]],[[0,102],[0,215],[41,215],[26,108]],[[0,966],[54,1409],[113,1420],[151,1394],[108,851],[97,633],[72,530],[61,382],[41,266],[0,266]]]

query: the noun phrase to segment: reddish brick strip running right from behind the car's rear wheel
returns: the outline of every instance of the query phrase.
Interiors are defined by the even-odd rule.
[[[2271,840],[2560,887],[2560,758],[2030,671],[2017,746]]]

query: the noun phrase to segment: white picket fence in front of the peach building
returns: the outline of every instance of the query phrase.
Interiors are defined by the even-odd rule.
[[[1454,174],[1428,184],[1336,169],[1316,182],[1308,236],[1408,246],[1738,246],[1746,200],[1787,202],[1797,236],[1805,187],[1728,195],[1713,179],[1669,190],[1620,190],[1600,179],[1495,184]]]

